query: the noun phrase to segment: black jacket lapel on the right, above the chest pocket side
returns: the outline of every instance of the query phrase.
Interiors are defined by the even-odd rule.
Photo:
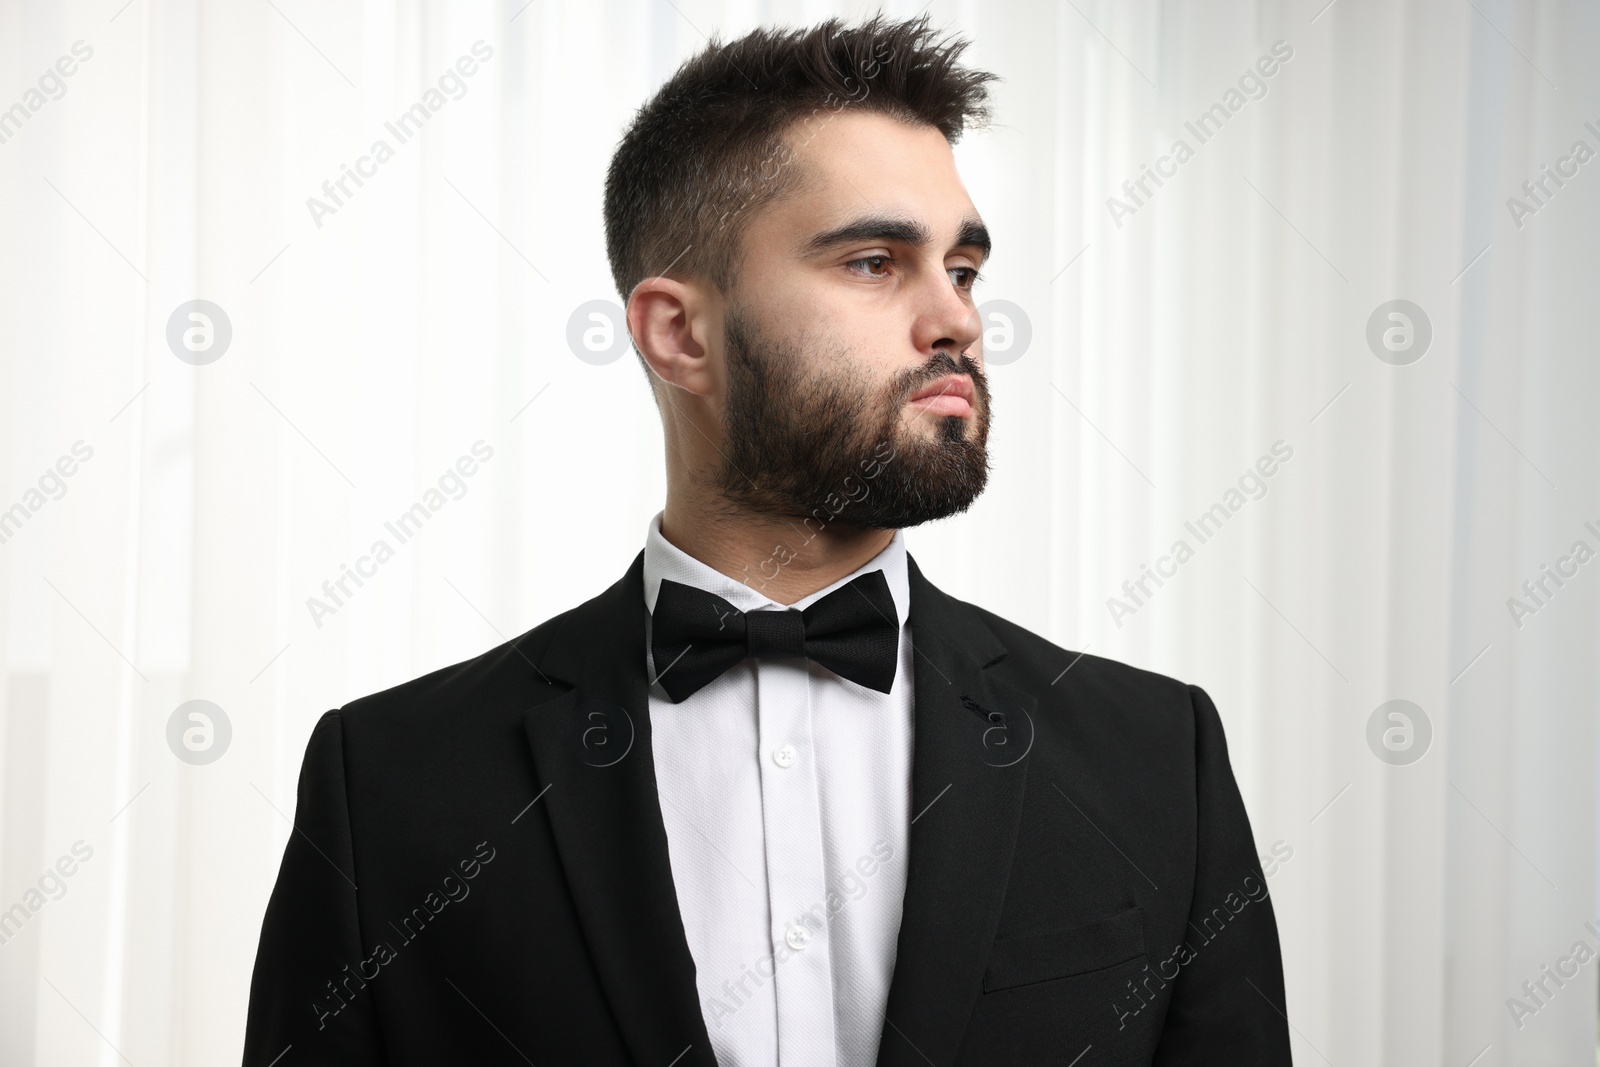
[[[984,670],[1005,645],[915,561],[910,864],[878,1067],[955,1062],[1005,901],[1037,701]]]

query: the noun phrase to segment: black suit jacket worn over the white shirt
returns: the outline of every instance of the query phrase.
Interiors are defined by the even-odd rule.
[[[246,1067],[715,1067],[642,574],[643,553],[514,641],[323,715]],[[1272,902],[1206,694],[909,574],[917,814],[878,1065],[1288,1064]]]

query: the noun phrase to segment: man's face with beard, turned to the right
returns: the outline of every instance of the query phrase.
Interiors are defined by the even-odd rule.
[[[813,526],[965,510],[989,470],[973,304],[989,237],[950,147],[830,110],[789,144],[795,189],[750,219],[728,286],[720,490]]]

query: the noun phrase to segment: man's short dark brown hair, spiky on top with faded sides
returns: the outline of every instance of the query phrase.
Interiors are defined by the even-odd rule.
[[[750,216],[797,179],[786,134],[843,109],[934,126],[955,144],[989,120],[995,75],[928,18],[758,29],[710,43],[638,109],[605,182],[606,254],[622,299],[642,280],[726,291]]]

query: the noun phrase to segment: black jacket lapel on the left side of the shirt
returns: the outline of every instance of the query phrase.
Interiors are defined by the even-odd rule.
[[[539,670],[574,686],[523,725],[539,806],[618,1027],[642,1067],[717,1067],[656,792],[643,553],[568,614]]]

